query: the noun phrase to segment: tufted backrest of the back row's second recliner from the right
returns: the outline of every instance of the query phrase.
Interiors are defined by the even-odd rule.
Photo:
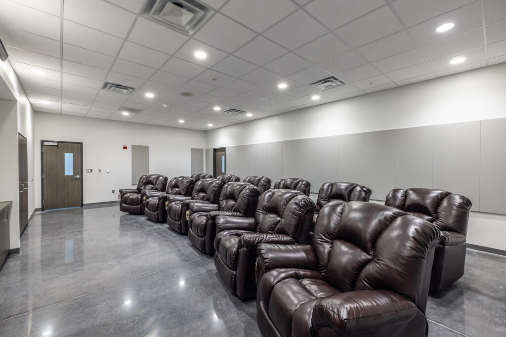
[[[369,201],[371,190],[368,187],[354,183],[324,183],[318,192],[316,212],[332,200],[341,201]]]

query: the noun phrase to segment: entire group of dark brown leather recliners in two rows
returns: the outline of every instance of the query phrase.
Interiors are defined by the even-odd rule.
[[[423,336],[428,293],[463,275],[471,201],[447,191],[303,179],[143,176],[120,209],[188,234],[226,286],[257,296],[265,336]]]

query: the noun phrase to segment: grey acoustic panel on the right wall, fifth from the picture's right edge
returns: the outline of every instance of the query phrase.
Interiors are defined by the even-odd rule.
[[[349,183],[364,183],[364,134],[341,135],[339,137],[338,180]]]

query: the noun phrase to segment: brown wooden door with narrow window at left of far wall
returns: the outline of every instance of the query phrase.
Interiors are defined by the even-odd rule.
[[[82,206],[82,143],[42,142],[42,209]]]

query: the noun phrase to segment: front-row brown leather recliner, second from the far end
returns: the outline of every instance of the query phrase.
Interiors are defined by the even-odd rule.
[[[168,181],[165,192],[147,190],[142,191],[141,196],[144,200],[144,215],[156,222],[167,220],[167,209],[165,202],[167,195],[191,196],[195,187],[195,181],[188,176],[175,177]]]

